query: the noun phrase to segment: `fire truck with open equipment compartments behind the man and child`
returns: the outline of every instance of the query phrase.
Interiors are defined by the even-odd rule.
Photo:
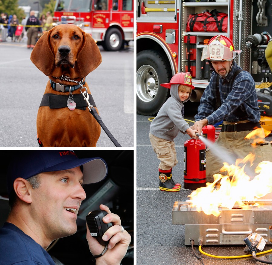
[[[160,83],[168,83],[178,72],[190,71],[195,86],[190,101],[199,101],[211,74],[209,62],[201,61],[202,49],[219,34],[232,39],[235,50],[243,51],[235,61],[251,73],[256,85],[269,78],[272,82],[265,59],[272,33],[271,0],[138,0],[137,4],[138,113],[156,115],[170,93]],[[226,32],[186,28],[191,14],[212,10],[227,15]]]

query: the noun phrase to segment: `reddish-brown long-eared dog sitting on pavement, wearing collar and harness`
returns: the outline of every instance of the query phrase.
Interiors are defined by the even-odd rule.
[[[49,77],[37,114],[40,146],[95,147],[101,127],[82,95],[87,91],[95,106],[85,78],[102,58],[91,35],[76,25],[53,27],[37,41],[31,61]]]

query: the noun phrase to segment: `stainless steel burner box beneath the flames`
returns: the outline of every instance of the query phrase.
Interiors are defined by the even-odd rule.
[[[232,209],[219,208],[219,216],[207,215],[191,207],[190,201],[176,201],[172,210],[172,223],[185,225],[185,245],[190,240],[204,245],[244,244],[251,233],[260,234],[266,244],[272,244],[272,201],[260,200],[259,207],[245,203]]]

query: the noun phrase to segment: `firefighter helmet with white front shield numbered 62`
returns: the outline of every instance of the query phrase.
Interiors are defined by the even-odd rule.
[[[234,50],[230,38],[222,35],[214,36],[209,40],[208,46],[202,51],[201,61],[232,61],[242,51]]]

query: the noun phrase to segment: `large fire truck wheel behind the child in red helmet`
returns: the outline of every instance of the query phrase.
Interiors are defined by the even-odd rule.
[[[169,82],[171,70],[166,59],[157,51],[145,50],[137,54],[137,113],[156,115],[170,96],[170,89],[161,87]]]

